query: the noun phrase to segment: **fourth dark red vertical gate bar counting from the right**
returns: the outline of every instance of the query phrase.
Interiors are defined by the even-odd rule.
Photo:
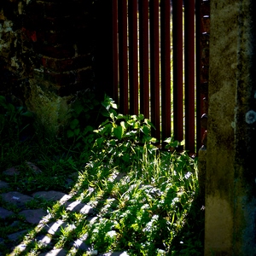
[[[152,135],[160,139],[159,0],[149,0],[149,25],[151,119],[155,126]]]

